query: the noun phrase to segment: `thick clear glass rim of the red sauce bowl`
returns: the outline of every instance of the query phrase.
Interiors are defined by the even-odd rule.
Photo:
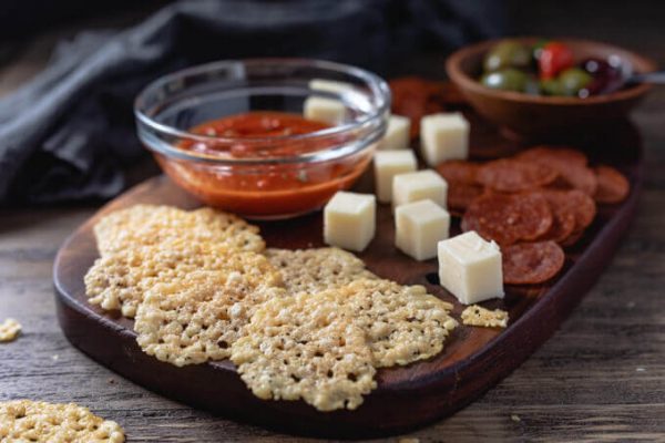
[[[233,64],[242,64],[244,66],[253,65],[253,66],[262,66],[267,64],[282,64],[282,65],[293,65],[293,66],[308,66],[308,68],[317,68],[321,70],[327,70],[330,72],[338,72],[341,74],[351,75],[362,80],[368,86],[371,95],[377,99],[377,106],[370,113],[362,116],[358,121],[351,123],[345,123],[340,125],[334,125],[330,127],[326,127],[323,130],[314,131],[306,134],[295,134],[295,135],[277,135],[277,136],[217,136],[217,135],[207,135],[207,134],[197,134],[186,130],[180,130],[174,126],[160,123],[155,121],[152,116],[147,114],[147,105],[145,102],[147,97],[152,94],[155,94],[161,87],[165,84],[177,81],[180,79],[206,74],[209,72],[219,71]],[[324,94],[332,94],[330,91],[323,91]],[[391,94],[390,87],[388,83],[380,78],[379,75],[354,65],[330,62],[325,60],[316,60],[316,59],[305,59],[305,58],[253,58],[253,59],[229,59],[229,60],[219,60],[209,63],[198,64],[194,66],[188,66],[185,69],[181,69],[168,74],[162,75],[152,82],[150,82],[146,86],[144,86],[141,92],[136,95],[134,100],[134,116],[137,123],[141,125],[145,125],[151,130],[173,136],[176,138],[188,140],[193,142],[218,142],[224,144],[231,143],[244,143],[244,144],[262,144],[262,143],[270,143],[270,142],[289,142],[289,141],[307,141],[307,140],[320,140],[327,138],[336,135],[344,135],[347,133],[351,133],[356,130],[360,130],[364,126],[375,122],[377,119],[383,120],[383,115],[388,115],[390,111],[391,104]],[[380,125],[383,131],[386,123],[382,122]],[[139,132],[141,132],[141,127]],[[311,154],[320,154],[328,151],[335,151],[335,147],[329,150],[314,151],[310,153],[298,154],[294,156],[280,156],[280,157],[242,157],[242,158],[228,158],[226,156],[222,156],[222,153],[218,155],[214,152],[201,153],[194,152],[190,150],[182,150],[174,146],[162,146],[162,148],[154,150],[152,146],[147,146],[151,151],[157,151],[161,154],[167,156],[175,156],[183,159],[192,159],[192,161],[219,161],[227,162],[231,164],[256,164],[256,163],[270,163],[270,159],[276,159],[275,163],[290,163],[290,162],[303,162],[310,159],[314,155]]]

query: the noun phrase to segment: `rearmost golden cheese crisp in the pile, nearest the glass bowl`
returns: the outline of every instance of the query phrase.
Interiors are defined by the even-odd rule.
[[[104,216],[94,226],[94,235],[101,255],[136,245],[158,245],[170,238],[219,243],[254,253],[265,249],[258,227],[207,207],[187,212],[135,205]]]

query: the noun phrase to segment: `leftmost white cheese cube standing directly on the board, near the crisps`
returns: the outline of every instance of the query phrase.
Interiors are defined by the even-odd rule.
[[[375,236],[376,213],[374,195],[338,192],[324,208],[324,241],[361,251]]]

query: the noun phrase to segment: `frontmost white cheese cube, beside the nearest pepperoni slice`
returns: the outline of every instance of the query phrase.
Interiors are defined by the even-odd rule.
[[[439,280],[463,305],[503,298],[499,246],[473,230],[439,241]]]

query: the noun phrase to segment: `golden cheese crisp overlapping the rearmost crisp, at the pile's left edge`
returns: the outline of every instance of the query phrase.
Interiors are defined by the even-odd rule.
[[[132,318],[143,295],[154,285],[183,279],[195,270],[227,269],[255,282],[278,277],[257,254],[206,240],[167,238],[158,245],[127,247],[98,258],[85,275],[85,293],[91,303],[106,310],[120,309]]]

